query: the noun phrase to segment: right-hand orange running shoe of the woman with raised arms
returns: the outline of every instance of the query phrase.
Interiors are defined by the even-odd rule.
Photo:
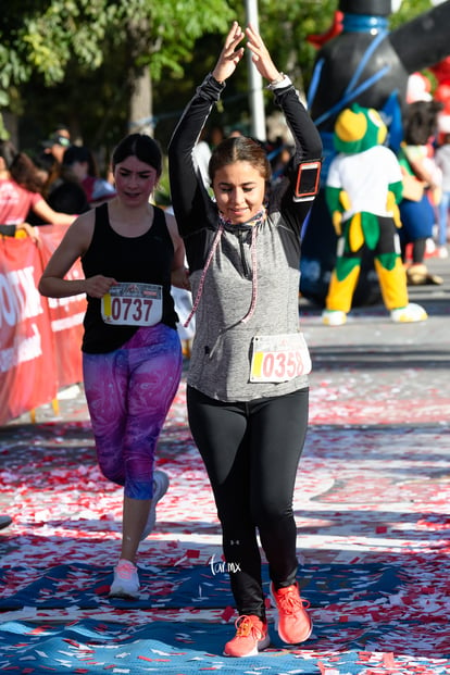
[[[271,584],[271,596],[278,611],[275,628],[282,640],[288,645],[308,640],[312,633],[312,620],[307,612],[310,603],[300,598],[299,585],[296,583],[275,590]]]

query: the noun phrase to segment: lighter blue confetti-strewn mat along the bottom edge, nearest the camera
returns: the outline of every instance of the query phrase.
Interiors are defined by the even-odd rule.
[[[350,626],[347,626],[349,629]],[[388,626],[385,626],[388,632]],[[364,650],[367,630],[345,650],[314,653],[314,642],[339,630],[339,625],[314,628],[315,638],[305,646],[286,648],[271,627],[273,642],[257,657],[228,659],[224,643],[233,636],[233,625],[200,622],[154,622],[145,626],[124,626],[90,620],[75,624],[42,626],[29,622],[8,622],[0,626],[0,670],[48,675],[49,673],[105,672],[129,675],[148,673],[193,673],[220,671],[221,675],[317,675],[333,673],[370,675],[392,673],[421,675],[448,673],[449,660],[396,655]],[[408,626],[405,626],[408,630]]]

